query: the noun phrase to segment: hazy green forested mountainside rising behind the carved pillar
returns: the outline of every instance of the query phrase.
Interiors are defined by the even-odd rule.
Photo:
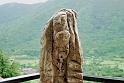
[[[47,20],[61,8],[78,14],[85,56],[124,56],[123,0],[48,0],[33,5],[0,5],[0,49],[13,55],[39,55]]]

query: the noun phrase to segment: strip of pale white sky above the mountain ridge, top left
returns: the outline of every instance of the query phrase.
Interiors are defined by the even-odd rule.
[[[6,4],[6,3],[35,4],[35,3],[41,3],[46,1],[47,0],[0,0],[0,5]]]

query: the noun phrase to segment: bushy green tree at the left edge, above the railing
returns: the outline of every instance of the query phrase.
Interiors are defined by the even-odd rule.
[[[0,76],[2,78],[13,77],[19,74],[19,64],[10,59],[0,50]]]

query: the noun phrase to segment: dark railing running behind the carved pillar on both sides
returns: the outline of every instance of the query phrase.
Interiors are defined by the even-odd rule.
[[[20,82],[38,79],[39,77],[40,77],[39,73],[34,73],[29,75],[6,78],[1,80],[0,83],[20,83]],[[83,79],[86,81],[101,82],[101,83],[124,83],[124,78],[120,78],[120,77],[83,76]]]

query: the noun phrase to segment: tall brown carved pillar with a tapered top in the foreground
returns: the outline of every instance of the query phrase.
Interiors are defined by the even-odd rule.
[[[40,83],[83,83],[76,13],[58,11],[41,38]]]

